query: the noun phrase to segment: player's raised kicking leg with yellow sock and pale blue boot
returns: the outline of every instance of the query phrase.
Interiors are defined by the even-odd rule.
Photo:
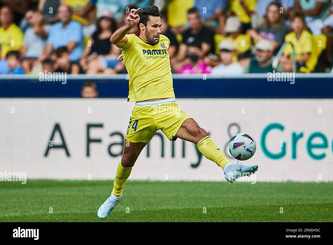
[[[179,128],[176,137],[196,144],[198,150],[207,159],[220,166],[225,174],[225,179],[231,183],[239,177],[250,175],[257,171],[258,166],[243,166],[234,164],[223,154],[223,152],[214,144],[207,132],[200,128],[193,118],[186,119]]]

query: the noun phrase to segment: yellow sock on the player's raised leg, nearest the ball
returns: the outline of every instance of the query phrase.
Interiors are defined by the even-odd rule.
[[[209,136],[202,138],[196,146],[202,155],[215,162],[222,169],[228,162],[230,162]]]

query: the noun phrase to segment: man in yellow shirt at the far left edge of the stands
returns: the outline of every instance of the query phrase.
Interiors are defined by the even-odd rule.
[[[9,6],[0,8],[1,59],[6,58],[8,51],[20,50],[22,47],[23,33],[20,28],[13,23],[13,18],[13,11]]]

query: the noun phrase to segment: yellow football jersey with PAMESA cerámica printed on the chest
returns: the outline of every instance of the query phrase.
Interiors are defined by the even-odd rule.
[[[128,42],[121,48],[129,73],[128,101],[175,97],[167,48],[169,39],[160,35],[156,45],[145,43],[135,34],[127,34]]]

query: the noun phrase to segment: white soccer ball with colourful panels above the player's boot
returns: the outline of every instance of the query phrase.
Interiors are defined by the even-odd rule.
[[[254,155],[256,148],[257,144],[248,134],[236,134],[229,141],[230,154],[239,161],[250,159]]]

